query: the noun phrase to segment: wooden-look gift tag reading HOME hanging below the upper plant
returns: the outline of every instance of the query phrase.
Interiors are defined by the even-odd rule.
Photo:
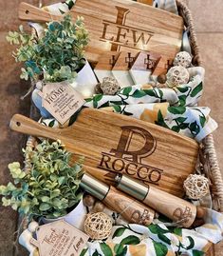
[[[66,82],[46,84],[42,98],[42,106],[62,125],[84,105],[82,94]]]

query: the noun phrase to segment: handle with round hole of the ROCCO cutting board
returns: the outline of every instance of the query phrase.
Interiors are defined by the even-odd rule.
[[[48,128],[20,114],[12,116],[9,126],[12,130],[20,133],[49,138],[55,141],[61,139],[61,130],[59,128]]]

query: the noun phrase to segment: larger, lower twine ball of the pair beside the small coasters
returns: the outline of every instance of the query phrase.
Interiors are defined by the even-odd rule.
[[[183,68],[182,66],[176,66],[169,69],[166,74],[166,79],[166,85],[169,88],[174,88],[187,84],[190,79],[190,74],[188,70]]]

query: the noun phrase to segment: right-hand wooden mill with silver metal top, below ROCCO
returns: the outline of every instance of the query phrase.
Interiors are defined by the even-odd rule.
[[[189,227],[194,224],[197,214],[196,207],[193,204],[156,187],[143,185],[126,175],[118,174],[116,181],[117,187],[123,192],[154,208],[178,225]]]

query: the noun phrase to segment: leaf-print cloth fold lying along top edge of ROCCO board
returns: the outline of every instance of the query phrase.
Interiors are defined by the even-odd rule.
[[[170,128],[178,133],[195,138],[197,142],[200,142],[217,128],[217,124],[209,116],[210,108],[205,107],[170,107],[169,103],[155,103],[116,105],[101,109],[129,115],[164,128]]]

